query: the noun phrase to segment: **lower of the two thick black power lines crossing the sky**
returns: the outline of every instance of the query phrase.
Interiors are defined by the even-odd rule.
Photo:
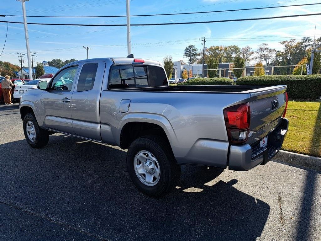
[[[263,18],[243,18],[243,19],[227,19],[227,20],[216,20],[216,21],[201,21],[201,22],[166,22],[166,23],[144,23],[144,24],[131,24],[131,26],[157,26],[157,25],[181,25],[181,24],[196,24],[196,23],[215,23],[215,22],[240,22],[240,21],[252,21],[252,20],[265,20],[265,19],[278,19],[278,18],[292,18],[292,17],[304,17],[304,16],[316,16],[321,13],[309,13],[299,15],[285,15],[275,17],[263,17]],[[13,21],[0,21],[7,23],[23,23]],[[61,25],[61,26],[126,26],[126,24],[74,24],[74,23],[40,23],[40,22],[28,22],[27,24],[34,25]]]

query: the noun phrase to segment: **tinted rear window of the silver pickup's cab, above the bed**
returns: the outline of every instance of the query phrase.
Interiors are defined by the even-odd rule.
[[[162,67],[151,65],[114,65],[110,68],[108,89],[168,85]]]

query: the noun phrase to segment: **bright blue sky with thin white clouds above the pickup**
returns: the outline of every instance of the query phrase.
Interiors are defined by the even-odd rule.
[[[131,14],[182,13],[253,8],[266,5],[293,5],[318,1],[250,1],[250,0],[131,0]],[[282,3],[282,4],[280,4]],[[273,5],[272,5],[273,4]],[[28,15],[76,16],[76,15],[126,15],[125,0],[30,0],[26,2]],[[131,23],[195,22],[237,18],[255,18],[294,14],[321,13],[321,5],[251,10],[228,13],[203,13],[176,16],[131,17]],[[0,14],[21,15],[18,1],[1,0]],[[0,17],[1,20],[22,21],[22,17]],[[170,55],[174,61],[183,57],[185,47],[194,44],[202,48],[200,39],[208,38],[206,46],[237,44],[240,47],[265,42],[281,50],[279,41],[303,36],[321,35],[321,16],[295,17],[246,22],[223,22],[168,26],[131,27],[132,53],[137,58],[162,60]],[[28,22],[46,23],[111,23],[126,24],[126,17],[117,18],[27,18]],[[0,53],[4,45],[6,23],[0,23]],[[29,25],[30,51],[38,56],[34,62],[60,58],[85,59],[89,45],[89,58],[126,57],[126,27],[71,27]],[[9,23],[7,42],[1,61],[19,64],[17,52],[26,53],[23,24]],[[26,58],[27,59],[27,58]],[[24,63],[27,66],[27,61]]]

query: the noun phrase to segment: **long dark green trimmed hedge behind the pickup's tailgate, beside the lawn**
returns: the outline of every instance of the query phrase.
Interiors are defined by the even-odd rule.
[[[244,76],[237,85],[287,85],[289,98],[318,99],[321,96],[321,75]]]

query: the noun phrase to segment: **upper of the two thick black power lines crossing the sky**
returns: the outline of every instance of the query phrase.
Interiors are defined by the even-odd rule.
[[[273,6],[273,7],[256,7],[256,8],[241,8],[241,9],[230,9],[230,10],[217,10],[217,11],[204,11],[204,12],[189,12],[189,13],[160,13],[160,14],[143,14],[143,15],[130,15],[131,17],[146,17],[146,16],[165,16],[165,15],[183,15],[183,14],[199,14],[199,13],[222,13],[222,12],[235,12],[245,10],[258,10],[258,9],[270,9],[270,8],[281,8],[281,7],[298,7],[298,6],[309,6],[319,5],[321,3],[311,4],[296,4],[286,6]],[[0,15],[0,17],[22,17],[22,15]],[[114,17],[126,17],[126,15],[107,15],[107,16],[35,16],[28,15],[27,17],[37,18],[114,18]]]

